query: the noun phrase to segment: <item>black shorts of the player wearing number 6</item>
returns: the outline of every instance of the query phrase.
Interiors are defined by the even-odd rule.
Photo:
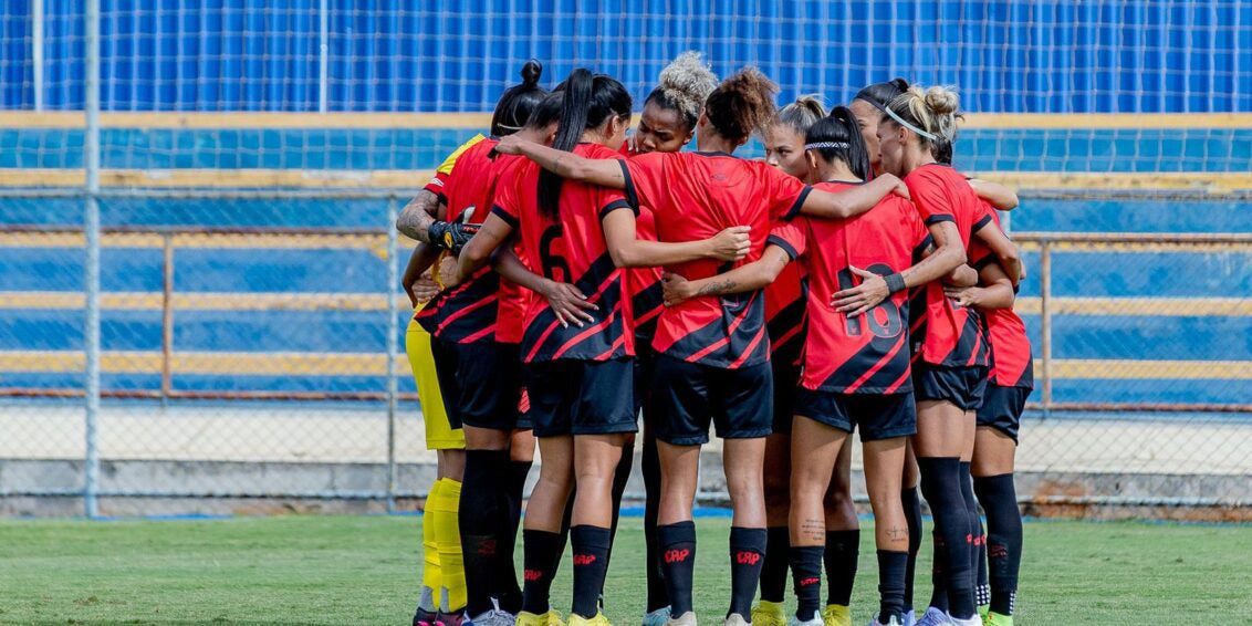
[[[536,437],[635,432],[635,359],[557,359],[526,366]]]

